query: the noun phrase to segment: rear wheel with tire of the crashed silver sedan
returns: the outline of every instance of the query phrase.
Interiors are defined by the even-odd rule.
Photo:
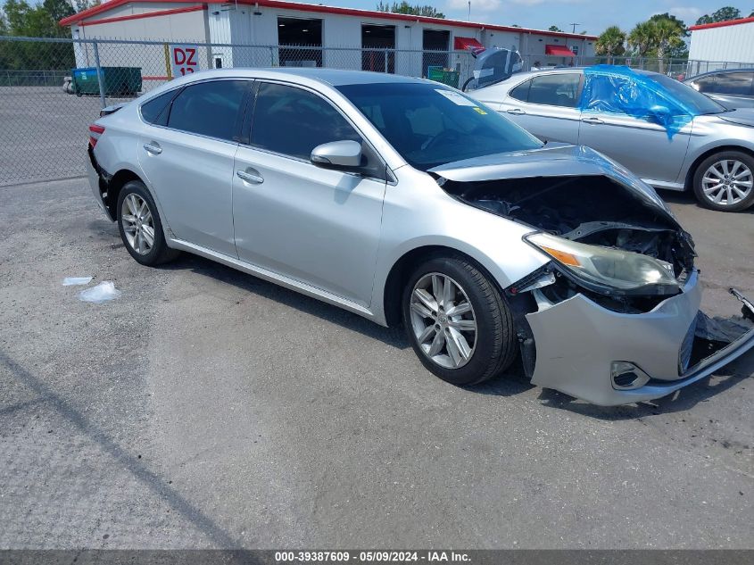
[[[179,254],[165,243],[157,206],[140,180],[131,180],[120,189],[118,229],[128,253],[142,265],[159,265]]]

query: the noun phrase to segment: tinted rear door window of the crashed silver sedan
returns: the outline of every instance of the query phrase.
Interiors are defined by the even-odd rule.
[[[249,80],[210,80],[184,88],[170,106],[168,127],[234,140]]]

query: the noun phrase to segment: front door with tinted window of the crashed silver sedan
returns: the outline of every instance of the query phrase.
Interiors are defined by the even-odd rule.
[[[331,141],[362,143],[363,174],[311,163]],[[385,165],[343,113],[303,87],[260,82],[249,145],[236,154],[233,218],[240,259],[369,306]]]

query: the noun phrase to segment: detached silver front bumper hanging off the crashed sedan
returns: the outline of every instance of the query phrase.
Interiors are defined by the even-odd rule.
[[[754,329],[684,369],[700,300],[694,272],[682,294],[642,314],[612,312],[584,295],[540,303],[538,312],[526,314],[536,345],[532,383],[609,406],[659,398],[708,377],[754,348]],[[617,387],[611,377],[616,361],[633,364],[649,380]]]

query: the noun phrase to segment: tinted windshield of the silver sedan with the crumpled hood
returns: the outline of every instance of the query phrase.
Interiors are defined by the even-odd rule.
[[[337,87],[419,170],[542,143],[498,112],[441,84],[377,83]]]

